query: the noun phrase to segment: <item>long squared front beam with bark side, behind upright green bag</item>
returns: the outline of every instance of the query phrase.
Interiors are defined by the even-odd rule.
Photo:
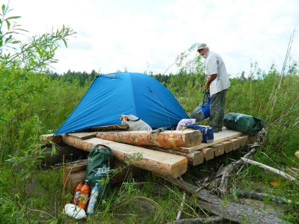
[[[153,151],[100,138],[82,140],[64,134],[62,135],[62,139],[64,143],[86,151],[90,151],[96,144],[107,145],[111,148],[112,153],[118,160],[133,162],[134,166],[159,175],[177,178],[187,171],[187,158],[183,156]],[[142,158],[132,160],[132,158],[136,158],[138,154],[142,155]]]

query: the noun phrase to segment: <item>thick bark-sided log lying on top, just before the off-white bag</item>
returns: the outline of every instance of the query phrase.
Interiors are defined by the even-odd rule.
[[[133,145],[155,145],[161,148],[181,150],[201,144],[200,131],[162,131],[151,134],[146,131],[97,132],[96,137]]]

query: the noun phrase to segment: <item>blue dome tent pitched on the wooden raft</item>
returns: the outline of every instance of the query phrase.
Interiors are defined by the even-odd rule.
[[[121,124],[121,114],[133,114],[152,128],[171,127],[189,118],[173,95],[141,73],[98,76],[55,135],[89,127]]]

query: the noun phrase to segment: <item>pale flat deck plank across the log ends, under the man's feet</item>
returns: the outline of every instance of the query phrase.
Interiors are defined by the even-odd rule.
[[[182,147],[182,149],[185,150],[184,152],[192,152],[192,151],[195,151],[195,150],[198,150],[198,149],[201,149],[201,148],[209,147],[210,145],[214,145],[216,143],[227,141],[229,139],[232,139],[232,138],[235,138],[235,137],[238,137],[238,136],[241,136],[241,135],[243,135],[242,132],[223,128],[222,131],[214,133],[214,141],[213,142],[201,143],[200,145],[197,145],[197,146],[194,146],[194,147],[189,147],[189,148]]]

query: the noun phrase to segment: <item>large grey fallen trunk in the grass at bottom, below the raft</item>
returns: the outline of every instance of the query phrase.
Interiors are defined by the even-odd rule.
[[[197,204],[202,209],[213,213],[224,219],[239,223],[255,223],[255,224],[281,224],[286,223],[278,216],[268,212],[257,210],[251,206],[241,205],[230,201],[224,201],[215,195],[204,190],[198,189],[196,186],[189,184],[183,180],[171,177],[162,177],[165,180],[179,186],[185,191],[196,196]]]

